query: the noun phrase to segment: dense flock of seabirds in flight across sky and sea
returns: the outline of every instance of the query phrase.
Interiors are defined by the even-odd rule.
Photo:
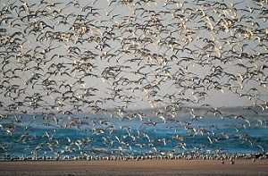
[[[194,128],[193,122],[216,117],[238,120],[238,132],[253,126],[267,128],[267,0],[8,0],[0,4],[0,129],[10,136],[16,125],[25,122],[25,114],[42,114],[47,126],[66,129],[80,129],[96,121],[91,114],[99,114],[97,125],[102,128],[90,128],[96,135],[113,133],[113,122],[103,120],[103,114],[138,120],[142,124],[138,129],[180,124],[191,135],[205,136],[208,144],[218,138],[209,129]],[[219,105],[240,105],[242,111],[224,113]],[[182,113],[188,121],[180,121]],[[130,127],[121,129],[136,140]],[[19,142],[29,138],[28,127],[24,130]],[[169,142],[161,138],[153,144],[147,133],[135,132],[147,138],[137,146],[147,145],[155,153],[161,153],[157,143]],[[47,132],[44,136],[54,151],[54,138]],[[247,134],[240,137],[262,153],[267,151]],[[229,138],[228,134],[222,138]],[[129,147],[118,137],[102,139],[110,147],[120,144],[118,151]],[[69,140],[78,148],[90,142]],[[187,146],[178,135],[172,140],[180,148]],[[0,145],[0,153],[7,150]]]

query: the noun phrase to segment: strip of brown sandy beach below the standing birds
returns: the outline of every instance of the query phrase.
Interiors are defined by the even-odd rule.
[[[146,160],[1,162],[1,176],[16,175],[268,175],[268,160]]]

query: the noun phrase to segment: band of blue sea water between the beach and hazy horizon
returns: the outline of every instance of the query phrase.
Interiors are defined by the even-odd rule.
[[[0,159],[109,155],[256,154],[268,151],[268,126],[258,118],[132,120],[110,115],[9,115],[1,120]],[[18,120],[19,117],[19,120]],[[70,125],[76,118],[79,124]],[[150,122],[156,122],[154,125]]]

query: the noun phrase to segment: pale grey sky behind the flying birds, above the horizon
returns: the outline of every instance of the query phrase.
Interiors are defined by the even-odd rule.
[[[0,6],[3,8],[13,2],[19,7],[24,1],[2,0]],[[79,107],[84,112],[91,112],[88,103],[73,98],[64,100],[64,92],[70,90],[66,85],[71,86],[74,96],[93,101],[94,105],[104,109],[122,106],[143,109],[177,104],[245,106],[261,105],[267,101],[265,82],[268,70],[258,72],[262,65],[267,64],[265,2],[178,0],[174,4],[172,1],[124,4],[127,1],[115,1],[110,6],[111,1],[105,0],[77,1],[80,5],[75,1],[73,4],[71,1],[44,2],[63,4],[54,7],[39,5],[38,1],[25,1],[31,11],[48,12],[46,16],[31,17],[29,21],[27,18],[20,20],[29,12],[18,16],[17,8],[1,16],[1,19],[4,16],[17,19],[2,21],[1,28],[7,30],[1,34],[2,41],[16,31],[23,31],[24,36],[19,42],[21,45],[14,46],[15,52],[4,53],[13,45],[0,47],[3,112],[4,108],[18,102],[24,102],[24,106],[13,111],[27,109],[38,112],[53,107],[55,111],[75,112]],[[86,5],[88,9],[83,10]],[[92,13],[88,13],[90,6]],[[62,16],[56,17],[55,11],[60,11]],[[87,13],[86,21],[75,21],[78,14]],[[66,23],[63,23],[64,17],[67,17]],[[13,25],[11,21],[19,25]],[[38,29],[40,21],[44,22],[43,29]],[[153,25],[154,22],[159,25]],[[54,28],[44,28],[45,23]],[[143,29],[145,27],[147,29]],[[38,30],[29,32],[34,28]],[[49,38],[49,34],[56,38]],[[55,48],[44,51],[49,47]],[[135,59],[135,62],[131,61]],[[116,71],[116,68],[121,71]],[[117,76],[109,78],[109,69]],[[224,74],[217,75],[217,69]],[[138,70],[147,75],[142,82],[138,82],[143,77],[135,73]],[[58,73],[47,73],[49,71]],[[234,75],[237,80],[230,80],[227,74]],[[38,79],[30,80],[37,75]],[[205,78],[224,86],[208,86]],[[126,82],[128,80],[130,83]],[[205,86],[198,88],[201,80]],[[54,85],[47,86],[49,81]],[[9,89],[13,85],[18,88]],[[150,88],[154,85],[157,87]],[[97,91],[90,92],[93,96],[85,96],[86,88],[96,88]],[[18,94],[18,89],[24,93]],[[205,96],[197,96],[204,92]],[[252,96],[245,96],[247,94]],[[32,97],[37,96],[42,101],[33,108]]]

